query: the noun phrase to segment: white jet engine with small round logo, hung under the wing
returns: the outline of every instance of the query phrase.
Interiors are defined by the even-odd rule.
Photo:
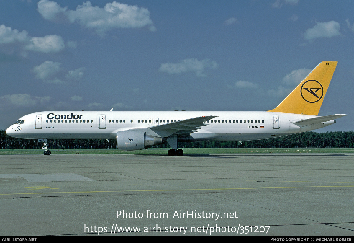
[[[148,135],[141,129],[117,132],[117,148],[121,150],[139,150],[162,143],[162,137]]]

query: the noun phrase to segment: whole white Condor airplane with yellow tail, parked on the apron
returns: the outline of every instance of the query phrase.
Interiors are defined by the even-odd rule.
[[[21,117],[6,134],[47,139],[116,139],[122,150],[168,143],[169,156],[183,156],[177,142],[248,141],[286,136],[336,123],[346,114],[318,116],[337,62],[321,62],[269,111],[45,111]]]

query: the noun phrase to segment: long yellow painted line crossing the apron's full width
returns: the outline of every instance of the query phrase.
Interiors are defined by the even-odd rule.
[[[164,191],[212,191],[212,190],[245,190],[245,189],[276,189],[276,188],[309,188],[309,187],[354,187],[354,186],[285,186],[285,187],[245,187],[245,188],[212,188],[212,189],[162,189],[162,190],[127,190],[127,191],[87,191],[87,192],[27,192],[4,193],[0,195],[53,194],[53,193],[98,193],[98,192],[164,192]]]

